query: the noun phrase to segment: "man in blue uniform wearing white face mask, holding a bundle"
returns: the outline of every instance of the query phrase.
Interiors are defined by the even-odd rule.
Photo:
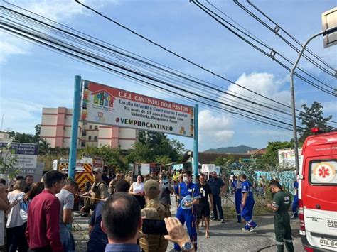
[[[194,248],[197,250],[197,232],[196,232],[196,207],[201,198],[198,186],[192,182],[192,172],[187,170],[183,172],[183,182],[174,188],[176,195],[179,197],[179,206],[176,218],[181,224],[186,222],[188,235]],[[174,250],[180,251],[181,248],[177,243],[174,244]]]

